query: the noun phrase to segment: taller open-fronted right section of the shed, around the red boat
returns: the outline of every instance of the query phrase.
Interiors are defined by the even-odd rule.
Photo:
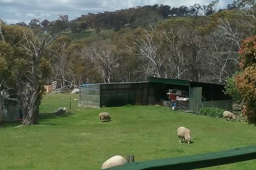
[[[168,89],[178,89],[188,92],[188,107],[191,111],[196,112],[202,107],[218,107],[232,111],[232,99],[225,95],[224,84],[154,77],[147,77],[147,81],[150,90],[154,91],[150,92],[150,96],[157,101],[168,100]]]

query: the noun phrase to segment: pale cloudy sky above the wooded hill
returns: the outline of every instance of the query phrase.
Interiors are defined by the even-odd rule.
[[[33,18],[56,20],[59,14],[67,14],[70,19],[81,14],[114,11],[134,6],[167,4],[179,7],[195,3],[209,4],[212,0],[0,0],[0,15],[8,24]],[[218,7],[224,8],[232,0],[220,0]]]

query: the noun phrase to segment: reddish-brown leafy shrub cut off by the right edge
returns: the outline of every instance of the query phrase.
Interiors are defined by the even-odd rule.
[[[244,103],[242,114],[256,126],[256,36],[247,38],[239,53],[242,73],[235,77],[235,83]]]

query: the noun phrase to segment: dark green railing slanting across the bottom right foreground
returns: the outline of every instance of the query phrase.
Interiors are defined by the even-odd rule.
[[[256,159],[256,145],[199,155],[128,163],[109,170],[187,170]]]

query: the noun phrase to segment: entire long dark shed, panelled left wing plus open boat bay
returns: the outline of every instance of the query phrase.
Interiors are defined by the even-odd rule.
[[[203,107],[232,111],[232,100],[225,95],[223,84],[180,79],[147,77],[146,82],[101,83],[80,86],[80,106],[113,107],[153,105],[168,100],[167,90],[187,91],[187,107],[196,112]]]

